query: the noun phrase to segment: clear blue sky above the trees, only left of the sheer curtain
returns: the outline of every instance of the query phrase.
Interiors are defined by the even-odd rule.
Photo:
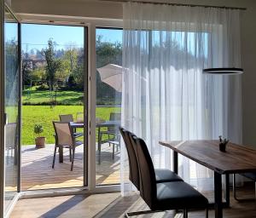
[[[11,33],[10,33],[11,34]],[[111,43],[122,42],[122,31],[112,29],[97,29],[97,35],[102,35],[103,41]],[[67,45],[84,46],[84,27],[54,26],[54,25],[21,25],[22,49],[44,49],[49,38],[58,46],[55,49],[65,49]]]

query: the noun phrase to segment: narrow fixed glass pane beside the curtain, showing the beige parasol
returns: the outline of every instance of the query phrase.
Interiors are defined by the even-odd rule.
[[[120,183],[122,29],[96,28],[96,185]]]

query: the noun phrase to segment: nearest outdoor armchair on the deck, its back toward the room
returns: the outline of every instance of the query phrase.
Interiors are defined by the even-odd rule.
[[[57,148],[68,148],[69,149],[69,160],[71,161],[71,171],[73,171],[73,161],[75,156],[76,146],[83,144],[82,141],[76,141],[73,137],[73,130],[70,123],[66,122],[53,122],[55,129],[55,152],[52,163],[52,168],[55,167],[55,156]]]

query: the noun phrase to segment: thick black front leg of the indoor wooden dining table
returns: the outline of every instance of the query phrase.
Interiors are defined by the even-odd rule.
[[[214,172],[214,202],[215,202],[215,218],[223,217],[222,205],[222,183],[221,175]]]

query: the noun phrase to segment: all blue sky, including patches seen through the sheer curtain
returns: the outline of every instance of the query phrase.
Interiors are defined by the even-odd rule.
[[[17,36],[17,25],[6,23],[5,34],[8,40],[13,39]],[[163,32],[164,34],[165,32]],[[120,29],[109,29],[109,28],[97,28],[96,37],[101,35],[103,42],[110,43],[122,43],[122,30]],[[155,31],[155,41],[159,42],[159,32]],[[180,44],[181,47],[185,46],[183,43],[184,32],[176,32],[172,34],[173,41]],[[207,42],[207,33],[205,34]],[[17,38],[17,37],[16,37]],[[68,45],[75,45],[79,48],[84,47],[84,27],[81,26],[55,26],[55,25],[38,25],[38,24],[22,24],[21,25],[21,44],[23,50],[32,49],[45,49],[49,38],[57,44],[55,49],[65,49]],[[165,34],[164,37],[165,38]],[[188,33],[188,46],[190,53],[195,52],[195,32]],[[207,53],[206,53],[207,56]]]

